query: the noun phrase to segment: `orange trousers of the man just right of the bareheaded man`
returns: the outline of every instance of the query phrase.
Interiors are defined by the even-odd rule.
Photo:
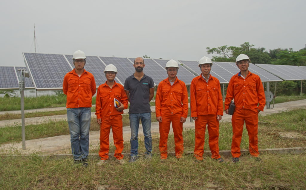
[[[184,151],[183,141],[183,123],[181,121],[182,114],[163,115],[162,122],[159,122],[159,151],[160,158],[167,159],[168,157],[168,135],[170,131],[170,122],[172,122],[172,129],[174,133],[175,156],[181,158]]]

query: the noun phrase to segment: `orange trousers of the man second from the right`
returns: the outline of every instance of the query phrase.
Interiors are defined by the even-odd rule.
[[[194,148],[194,156],[198,160],[203,160],[204,143],[205,143],[205,130],[207,124],[208,130],[208,144],[211,150],[211,158],[221,158],[219,155],[219,121],[217,115],[198,115],[196,124],[196,141]]]

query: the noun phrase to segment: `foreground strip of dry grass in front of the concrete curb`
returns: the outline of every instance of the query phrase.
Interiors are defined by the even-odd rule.
[[[194,163],[192,156],[160,163],[158,156],[133,164],[110,160],[87,168],[71,158],[1,156],[2,189],[305,189],[306,155],[263,155],[263,162],[242,157],[226,164],[212,159]]]

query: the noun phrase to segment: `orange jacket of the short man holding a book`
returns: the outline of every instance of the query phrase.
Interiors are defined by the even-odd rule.
[[[114,98],[123,104],[124,109],[128,108],[128,97],[126,96],[125,90],[121,84],[114,81],[112,89],[110,89],[106,82],[99,86],[96,97],[95,112],[97,119],[102,118],[103,120],[107,120],[112,119],[114,115],[123,114],[123,110],[116,110],[114,106]]]

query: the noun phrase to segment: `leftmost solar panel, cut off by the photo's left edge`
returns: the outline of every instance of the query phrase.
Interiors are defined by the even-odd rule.
[[[14,67],[0,67],[0,89],[19,90],[19,82]]]

